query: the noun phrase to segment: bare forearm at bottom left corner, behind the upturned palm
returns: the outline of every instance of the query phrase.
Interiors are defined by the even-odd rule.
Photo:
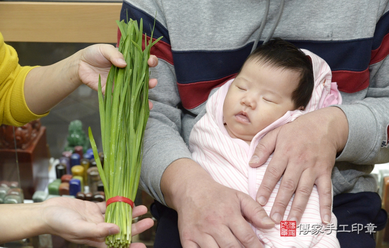
[[[0,244],[45,233],[42,204],[1,204]]]

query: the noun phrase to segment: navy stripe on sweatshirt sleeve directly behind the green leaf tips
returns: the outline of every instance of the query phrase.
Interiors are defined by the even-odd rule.
[[[150,16],[146,12],[138,9],[137,7],[128,4],[127,2],[123,2],[122,9],[120,11],[120,20],[124,20],[127,23],[127,15],[128,19],[137,20],[140,22],[140,18],[143,19],[143,33],[147,33],[147,36],[151,35],[151,29],[154,26],[154,16]],[[151,29],[150,29],[151,26]],[[168,30],[159,22],[155,21],[155,28],[153,37],[160,37],[163,42],[166,42],[170,45],[170,38]]]

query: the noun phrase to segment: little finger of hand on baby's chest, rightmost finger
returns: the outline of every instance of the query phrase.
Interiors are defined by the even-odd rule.
[[[325,224],[331,222],[331,205],[332,205],[332,185],[331,172],[323,175],[316,180],[317,192],[319,193],[320,216],[321,221]]]

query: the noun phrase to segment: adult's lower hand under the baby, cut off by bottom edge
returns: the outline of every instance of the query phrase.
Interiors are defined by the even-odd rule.
[[[192,247],[263,247],[250,227],[270,229],[274,223],[249,195],[214,181],[188,158],[165,170],[161,190],[166,204],[177,210],[181,244]]]

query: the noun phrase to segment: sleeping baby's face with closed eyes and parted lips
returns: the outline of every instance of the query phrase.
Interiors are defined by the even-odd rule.
[[[231,83],[223,105],[226,129],[233,138],[251,141],[263,128],[294,110],[292,93],[300,75],[247,61]]]

